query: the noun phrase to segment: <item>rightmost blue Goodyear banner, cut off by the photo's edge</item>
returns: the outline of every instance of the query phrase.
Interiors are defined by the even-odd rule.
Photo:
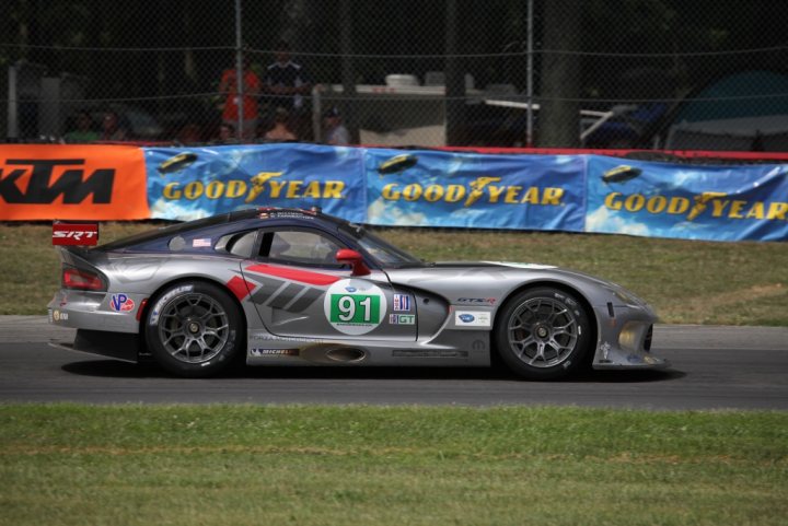
[[[587,232],[788,239],[788,165],[682,166],[591,155]]]

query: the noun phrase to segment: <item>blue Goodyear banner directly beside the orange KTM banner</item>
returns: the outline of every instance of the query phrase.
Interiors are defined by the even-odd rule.
[[[254,207],[321,207],[363,222],[362,150],[317,144],[147,148],[154,219],[192,220]]]

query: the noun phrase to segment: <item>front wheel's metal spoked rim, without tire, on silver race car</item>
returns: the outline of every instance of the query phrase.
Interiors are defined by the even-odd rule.
[[[533,297],[509,318],[507,335],[514,355],[533,367],[553,367],[568,359],[578,343],[578,319],[559,301]]]

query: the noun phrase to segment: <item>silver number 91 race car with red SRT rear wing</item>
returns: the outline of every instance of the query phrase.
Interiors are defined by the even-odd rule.
[[[72,350],[178,376],[248,365],[485,366],[525,378],[659,369],[656,316],[625,289],[543,265],[425,262],[317,210],[255,209],[95,244],[55,225],[53,324]],[[68,246],[70,245],[70,246]]]

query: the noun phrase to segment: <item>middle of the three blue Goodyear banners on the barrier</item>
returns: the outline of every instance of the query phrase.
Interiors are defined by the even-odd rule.
[[[583,160],[369,149],[367,222],[583,230]]]

